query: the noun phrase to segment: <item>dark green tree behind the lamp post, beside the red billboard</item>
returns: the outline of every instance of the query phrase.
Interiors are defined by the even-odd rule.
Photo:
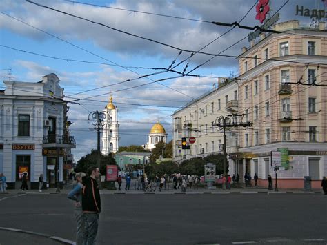
[[[115,158],[112,157],[111,153],[109,155],[102,155],[100,153],[100,173],[101,175],[106,175],[106,165],[117,165]],[[75,172],[84,172],[88,170],[90,166],[97,166],[97,150],[91,150],[91,153],[88,153],[84,157],[81,157],[77,161],[77,166]]]

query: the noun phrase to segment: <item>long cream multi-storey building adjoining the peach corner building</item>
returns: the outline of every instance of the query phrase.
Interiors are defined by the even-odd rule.
[[[238,84],[235,79],[218,79],[218,87],[183,106],[172,115],[174,135],[173,159],[182,161],[194,157],[222,153],[224,137],[221,131],[212,126],[217,117],[231,115],[239,110]],[[181,148],[181,138],[195,137],[190,149]],[[239,137],[237,130],[226,133],[228,153],[237,152]],[[234,166],[230,162],[230,170]]]

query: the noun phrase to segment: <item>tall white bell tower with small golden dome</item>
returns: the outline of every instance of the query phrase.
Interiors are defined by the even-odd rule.
[[[106,122],[103,126],[103,135],[102,135],[102,150],[103,155],[108,155],[109,153],[116,153],[118,150],[118,109],[114,104],[112,104],[112,96],[109,98],[109,103],[106,108],[103,110],[108,113],[106,117]]]

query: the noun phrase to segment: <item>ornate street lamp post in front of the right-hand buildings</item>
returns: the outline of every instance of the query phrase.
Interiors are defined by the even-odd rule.
[[[227,175],[226,129],[252,126],[252,123],[249,121],[237,123],[236,116],[237,115],[220,116],[216,118],[215,123],[212,121],[212,126],[217,127],[219,130],[223,130],[224,133],[224,176]]]

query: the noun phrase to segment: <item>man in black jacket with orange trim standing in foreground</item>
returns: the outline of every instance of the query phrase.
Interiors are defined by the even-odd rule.
[[[101,213],[101,197],[97,178],[100,175],[99,168],[90,166],[88,176],[82,178],[82,208],[85,222],[84,244],[95,244],[99,226],[99,213]]]

